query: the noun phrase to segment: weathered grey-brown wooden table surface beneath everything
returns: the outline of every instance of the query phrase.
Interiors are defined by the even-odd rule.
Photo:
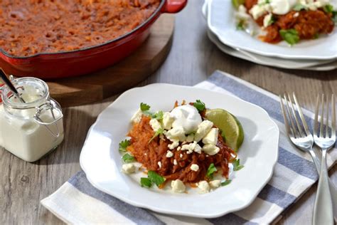
[[[284,70],[243,61],[222,53],[208,40],[201,15],[203,1],[192,0],[176,16],[171,53],[159,70],[139,85],[174,83],[195,85],[214,70],[223,70],[272,93],[292,92],[304,107],[314,109],[316,95],[337,95],[337,70],[313,72]],[[36,163],[23,162],[0,149],[0,224],[62,224],[40,200],[55,192],[80,170],[81,147],[90,125],[117,96],[100,103],[65,108],[65,141],[57,150]],[[337,184],[337,166],[330,171]],[[317,185],[284,212],[277,223],[311,224]]]

